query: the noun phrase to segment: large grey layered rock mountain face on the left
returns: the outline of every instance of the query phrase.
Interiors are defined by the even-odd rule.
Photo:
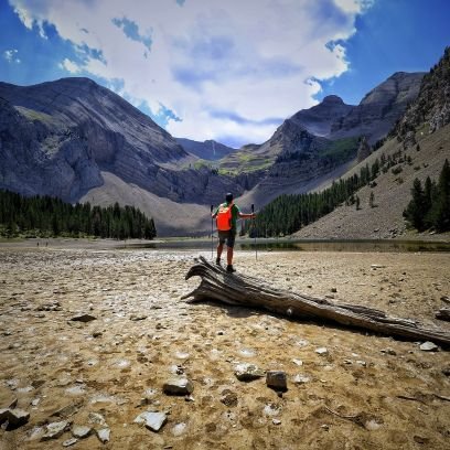
[[[244,191],[235,179],[190,169],[195,158],[175,139],[87,78],[0,83],[0,189],[75,202],[107,171],[176,202],[208,201],[208,190],[221,200],[227,190]]]

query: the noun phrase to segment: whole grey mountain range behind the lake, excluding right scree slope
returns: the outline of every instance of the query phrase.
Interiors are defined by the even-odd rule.
[[[236,151],[174,139],[87,78],[0,83],[0,189],[101,206],[118,201],[152,216],[159,235],[206,234],[210,205],[225,192],[244,210],[259,208],[341,176],[356,163],[361,135],[369,142],[383,137],[419,79],[395,74],[358,106],[325,97],[285,120],[267,142]]]

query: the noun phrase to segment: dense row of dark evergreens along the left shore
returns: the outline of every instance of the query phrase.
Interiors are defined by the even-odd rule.
[[[135,206],[72,205],[51,196],[26,197],[0,190],[0,234],[152,239],[157,229],[153,219]]]

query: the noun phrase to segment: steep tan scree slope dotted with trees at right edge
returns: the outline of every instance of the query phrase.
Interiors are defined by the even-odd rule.
[[[422,77],[417,97],[390,131],[389,139],[343,174],[342,179],[346,179],[379,162],[382,170],[374,182],[356,193],[361,208],[342,204],[294,236],[326,239],[417,236],[407,231],[403,211],[411,199],[414,180],[419,179],[422,185],[427,176],[438,181],[444,160],[450,160],[449,105],[450,47],[447,47],[439,63]]]

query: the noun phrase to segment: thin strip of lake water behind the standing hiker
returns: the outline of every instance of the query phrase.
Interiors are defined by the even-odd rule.
[[[178,249],[178,250],[205,250],[217,246],[217,239],[168,239],[156,240],[148,244],[126,244],[118,248],[148,248],[148,249]],[[417,240],[300,240],[300,239],[236,239],[235,248],[247,251],[450,251],[450,243],[417,242]]]

